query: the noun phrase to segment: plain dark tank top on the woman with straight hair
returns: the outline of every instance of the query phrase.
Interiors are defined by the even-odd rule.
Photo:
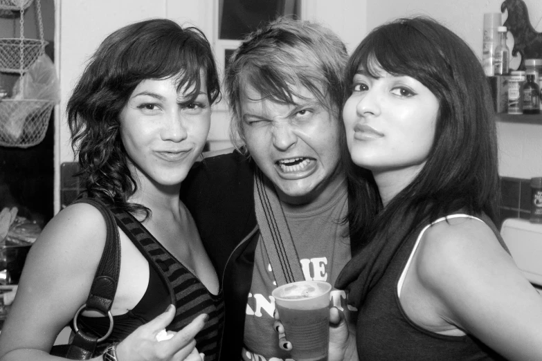
[[[477,217],[489,225],[506,249],[489,217]],[[356,326],[356,345],[360,358],[369,361],[505,360],[471,335],[433,333],[410,321],[404,313],[397,295],[397,282],[418,234],[415,232],[401,245],[379,283],[370,290],[360,306]]]

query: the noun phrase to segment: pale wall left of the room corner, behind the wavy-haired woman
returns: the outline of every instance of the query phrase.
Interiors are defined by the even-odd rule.
[[[73,161],[66,126],[66,102],[87,59],[102,39],[126,24],[151,17],[190,23],[212,41],[214,10],[218,0],[56,0],[55,65],[61,100],[55,127],[55,213],[60,210],[60,165]],[[304,0],[302,16],[320,21],[344,39],[351,50],[366,33],[366,0]],[[222,107],[224,109],[224,107]],[[229,146],[228,113],[213,112],[209,140],[215,149]]]

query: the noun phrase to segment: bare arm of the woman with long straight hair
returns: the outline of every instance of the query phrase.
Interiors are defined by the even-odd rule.
[[[442,222],[424,243],[417,273],[444,320],[509,360],[542,360],[542,298],[487,225]]]

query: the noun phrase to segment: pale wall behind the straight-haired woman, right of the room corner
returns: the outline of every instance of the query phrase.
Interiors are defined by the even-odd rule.
[[[524,0],[532,26],[542,32],[542,1]],[[482,28],[485,12],[500,12],[503,0],[367,0],[368,30],[397,17],[429,15],[482,56]],[[505,21],[507,13],[503,14]],[[518,62],[512,66],[517,67]],[[542,176],[542,124],[498,122],[499,173],[501,176]]]

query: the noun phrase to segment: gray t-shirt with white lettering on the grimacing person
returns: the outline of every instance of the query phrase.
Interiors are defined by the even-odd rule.
[[[348,212],[346,181],[343,179],[338,183],[325,199],[303,206],[283,203],[282,207],[305,279],[327,281],[333,285],[351,258],[348,224],[341,223]],[[278,334],[273,330],[275,300],[271,292],[275,288],[269,257],[260,237],[246,304],[242,360],[293,360],[289,352],[278,347]],[[345,291],[333,289],[331,298],[334,306],[345,312],[348,320],[355,322],[355,315],[350,315],[352,310],[346,305]]]

